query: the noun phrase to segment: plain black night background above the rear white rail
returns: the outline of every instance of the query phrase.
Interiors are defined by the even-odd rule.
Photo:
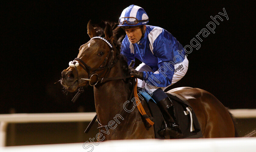
[[[183,45],[190,44],[210,16],[223,13],[229,20],[216,25],[215,34],[202,38],[199,50],[188,54],[187,74],[173,88],[189,86],[211,92],[231,109],[256,108],[254,5],[240,2],[0,2],[1,98],[0,113],[95,111],[93,88],[72,103],[75,93],[63,94],[62,70],[79,47],[89,41],[87,22],[117,22],[129,5],[149,16],[148,25],[160,26]],[[254,33],[254,34],[253,34]]]

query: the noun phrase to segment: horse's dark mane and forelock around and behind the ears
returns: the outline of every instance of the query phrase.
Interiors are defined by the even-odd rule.
[[[96,30],[96,33],[98,36],[105,37],[105,27],[106,24],[109,23],[112,30],[113,30],[113,43],[116,46],[116,49],[121,51],[121,44],[122,41],[126,35],[125,31],[118,26],[118,23],[115,22],[108,22],[108,21],[101,21],[99,24],[93,25],[94,29]],[[128,65],[127,65],[127,59],[125,56],[121,54],[121,58],[119,59],[122,65],[122,70],[124,73],[128,74]]]

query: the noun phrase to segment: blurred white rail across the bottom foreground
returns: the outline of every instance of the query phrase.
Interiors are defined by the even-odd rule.
[[[0,147],[1,152],[255,152],[256,137],[205,139],[111,140],[93,143],[68,143],[33,146]],[[89,145],[91,145],[89,147]],[[84,149],[83,146],[86,148]]]

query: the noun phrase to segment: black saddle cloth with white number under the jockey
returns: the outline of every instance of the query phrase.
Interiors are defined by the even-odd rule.
[[[142,92],[140,88],[138,88],[137,92],[139,92],[139,94],[145,99],[145,101],[148,102],[151,116],[154,118],[155,123],[155,138],[164,139],[164,137],[158,135],[158,131],[165,128],[165,123],[161,115],[161,111],[158,108],[158,105],[156,104],[155,100],[151,98],[151,96]],[[177,122],[180,124],[180,130],[183,134],[183,138],[201,138],[203,136],[201,128],[190,104],[184,98],[175,93],[166,94],[172,100],[172,103],[174,105],[176,119]]]

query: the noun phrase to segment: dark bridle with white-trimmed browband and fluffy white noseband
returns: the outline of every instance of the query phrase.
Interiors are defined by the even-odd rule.
[[[84,63],[84,61],[81,60],[80,58],[75,58],[73,61],[70,61],[69,66],[74,67],[75,70],[76,70],[77,83],[80,79],[84,80],[84,81],[88,81],[89,83],[86,86],[84,86],[84,87],[87,87],[88,85],[95,86],[95,85],[97,85],[99,83],[103,83],[105,81],[126,79],[126,78],[131,78],[132,77],[132,76],[125,76],[125,77],[106,78],[108,76],[109,72],[110,72],[110,69],[112,67],[114,67],[116,65],[117,61],[121,58],[120,52],[116,51],[117,55],[116,55],[116,57],[114,57],[114,47],[112,46],[111,43],[109,43],[106,39],[104,39],[103,37],[100,37],[100,36],[95,36],[95,37],[91,38],[91,40],[92,39],[103,40],[104,42],[106,42],[108,44],[108,46],[110,47],[111,50],[108,52],[107,57],[105,58],[105,60],[101,63],[101,65],[98,68],[91,68],[86,63]],[[88,78],[80,78],[80,79],[78,78],[78,70],[77,70],[78,66],[81,66],[87,72]],[[97,74],[96,73],[97,71],[102,71],[102,72]],[[103,77],[100,78],[102,75],[103,75]],[[96,79],[97,82],[94,83],[94,84],[91,84],[91,78],[93,76],[97,77],[97,79]],[[83,87],[78,89],[78,92],[76,93],[76,95],[72,99],[72,102],[75,102],[76,99],[80,96],[80,93],[82,93],[82,92],[84,92]]]

